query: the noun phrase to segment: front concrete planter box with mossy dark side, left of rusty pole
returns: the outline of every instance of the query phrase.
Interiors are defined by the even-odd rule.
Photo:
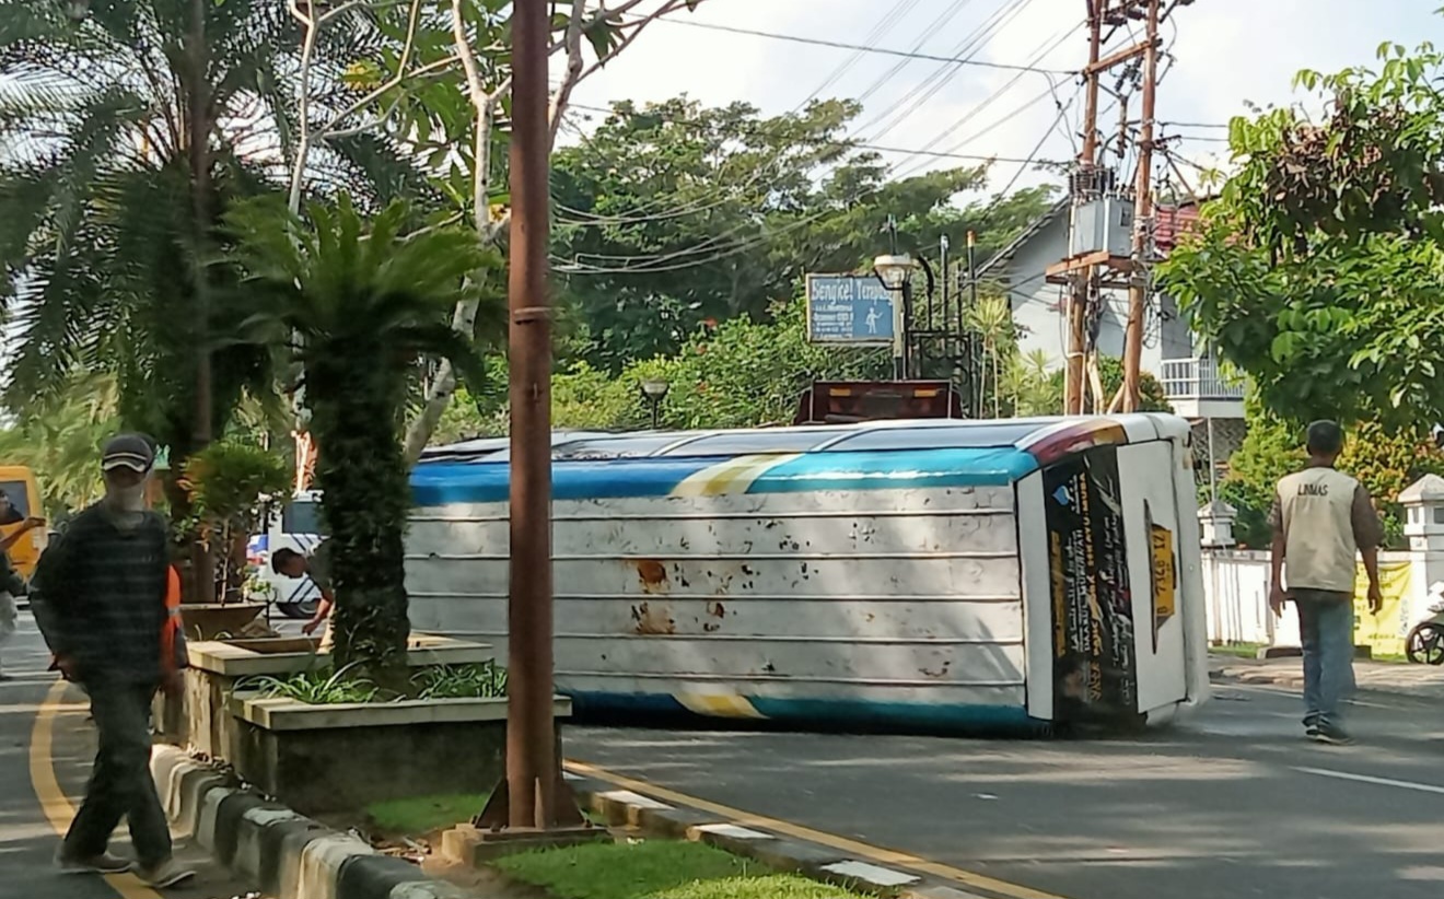
[[[234,727],[221,758],[303,814],[484,792],[505,773],[504,698],[309,706],[234,694],[225,711]],[[570,713],[557,697],[559,722]]]

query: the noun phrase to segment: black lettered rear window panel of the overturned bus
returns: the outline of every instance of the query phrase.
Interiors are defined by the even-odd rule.
[[[1043,472],[1058,720],[1138,710],[1134,603],[1118,450],[1097,447]],[[1152,547],[1148,547],[1151,550]]]

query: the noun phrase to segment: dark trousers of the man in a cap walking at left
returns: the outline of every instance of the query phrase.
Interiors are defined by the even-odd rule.
[[[105,851],[121,818],[140,864],[153,867],[170,857],[170,828],[150,776],[150,684],[91,681],[91,716],[100,732],[100,752],[91,771],[85,802],[65,836],[72,859]]]

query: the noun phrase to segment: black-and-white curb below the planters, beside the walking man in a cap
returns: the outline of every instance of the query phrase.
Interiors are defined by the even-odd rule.
[[[414,864],[312,821],[173,746],[156,746],[150,773],[166,815],[217,861],[277,899],[466,899]]]

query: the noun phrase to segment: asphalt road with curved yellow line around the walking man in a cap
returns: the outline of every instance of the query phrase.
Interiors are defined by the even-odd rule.
[[[52,856],[61,838],[56,831],[68,825],[69,807],[78,805],[85,792],[95,729],[85,720],[85,696],[75,688],[58,704],[46,706],[55,675],[45,671],[49,655],[27,613],[20,613],[20,632],[0,646],[0,658],[4,674],[13,678],[0,681],[0,899],[156,899],[156,892],[129,876],[107,882],[55,872]],[[38,729],[42,717],[45,723]],[[49,801],[49,814],[42,795]],[[124,825],[111,848],[130,854]],[[176,895],[227,899],[248,892],[245,883],[211,863],[199,848],[183,843],[176,848],[201,872]]]

